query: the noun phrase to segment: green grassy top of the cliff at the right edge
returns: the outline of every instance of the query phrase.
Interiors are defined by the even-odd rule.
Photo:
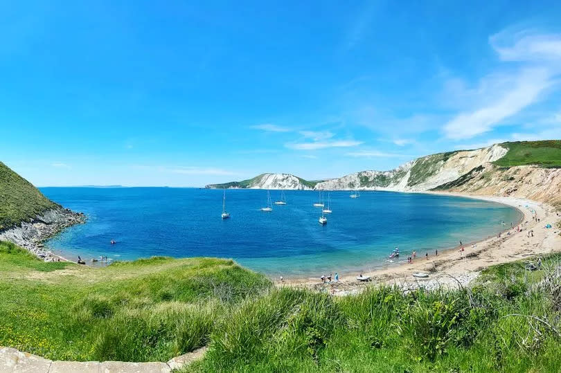
[[[561,140],[517,141],[502,143],[508,148],[504,157],[495,165],[513,167],[519,165],[540,165],[542,167],[561,167]]]

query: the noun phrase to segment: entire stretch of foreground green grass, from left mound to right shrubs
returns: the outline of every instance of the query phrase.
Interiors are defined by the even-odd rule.
[[[0,345],[49,358],[166,361],[184,372],[559,372],[560,256],[471,289],[275,289],[231,261],[47,264],[0,244]],[[7,301],[6,301],[7,300]]]

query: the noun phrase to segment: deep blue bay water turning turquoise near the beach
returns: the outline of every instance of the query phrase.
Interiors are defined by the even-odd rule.
[[[133,260],[153,255],[228,257],[269,275],[367,271],[392,265],[394,246],[418,255],[495,235],[522,215],[515,208],[431,194],[332,192],[328,224],[318,223],[318,192],[286,191],[286,206],[262,212],[265,190],[193,188],[41,188],[53,201],[84,212],[47,246],[69,259],[107,255]],[[279,191],[271,191],[278,199]],[[111,245],[114,239],[118,243]],[[406,260],[401,255],[400,260]]]

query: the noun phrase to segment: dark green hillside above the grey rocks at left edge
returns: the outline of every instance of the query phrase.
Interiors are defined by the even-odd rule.
[[[58,205],[0,162],[0,229],[17,226]]]

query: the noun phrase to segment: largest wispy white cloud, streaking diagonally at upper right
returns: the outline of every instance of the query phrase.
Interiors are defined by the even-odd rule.
[[[465,108],[443,127],[452,140],[486,134],[524,109],[543,100],[561,73],[561,35],[536,35],[529,30],[504,32],[489,38],[490,46],[505,64],[487,75],[475,89],[461,80],[447,82],[448,93],[458,93]],[[510,62],[510,64],[508,64]],[[512,62],[517,62],[513,66]],[[465,98],[478,97],[474,104]]]

